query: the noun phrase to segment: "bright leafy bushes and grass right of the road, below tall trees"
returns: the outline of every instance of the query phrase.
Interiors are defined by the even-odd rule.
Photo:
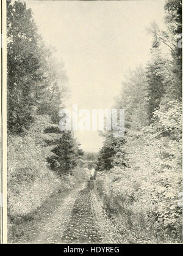
[[[103,183],[98,181],[98,189],[107,211],[121,225],[148,234],[151,241],[177,243],[182,241],[180,104],[170,102],[166,111],[160,107],[154,118],[149,127],[128,130],[123,146],[128,166],[114,158],[115,167],[105,172]]]

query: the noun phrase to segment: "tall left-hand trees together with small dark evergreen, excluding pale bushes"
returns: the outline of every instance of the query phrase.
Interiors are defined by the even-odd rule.
[[[48,164],[68,173],[84,152],[73,133],[60,132],[59,111],[68,92],[66,72],[55,58],[56,50],[43,42],[26,2],[7,1],[7,131],[30,133],[38,120],[46,122],[43,140],[52,146]],[[38,130],[38,127],[37,127]]]

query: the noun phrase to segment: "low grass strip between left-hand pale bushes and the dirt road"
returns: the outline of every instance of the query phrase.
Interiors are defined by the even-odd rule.
[[[37,209],[34,209],[34,211],[28,214],[19,214],[17,216],[11,216],[9,214],[8,243],[26,243],[26,241],[34,239],[34,236],[41,230],[46,219],[56,211],[57,206],[61,205],[70,192],[78,189],[84,182],[85,181],[82,180],[80,183],[74,183],[73,186],[65,191],[63,191],[62,186],[60,186],[60,188],[52,192]]]

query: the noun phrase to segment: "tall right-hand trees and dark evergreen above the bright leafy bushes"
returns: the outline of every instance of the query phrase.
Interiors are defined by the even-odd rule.
[[[128,75],[122,83],[121,95],[114,104],[115,108],[125,110],[125,136],[117,139],[113,138],[112,132],[103,134],[106,140],[99,152],[98,170],[110,170],[117,164],[117,158],[120,158],[120,165],[127,165],[123,145],[129,130],[145,126],[160,129],[160,115],[165,115],[170,107],[181,105],[182,48],[179,47],[179,41],[182,33],[182,4],[179,0],[168,0],[164,8],[167,31],[160,31],[156,23],[152,23],[151,61],[145,68],[138,67]],[[162,44],[170,49],[167,57],[162,55]],[[171,119],[176,117],[169,118],[173,122]],[[172,135],[172,131],[164,130],[163,134]]]

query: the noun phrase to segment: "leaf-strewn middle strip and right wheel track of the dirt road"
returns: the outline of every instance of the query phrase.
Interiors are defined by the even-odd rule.
[[[95,181],[89,181],[79,193],[62,243],[127,243],[126,230],[121,235],[109,220],[95,194],[94,184]]]

